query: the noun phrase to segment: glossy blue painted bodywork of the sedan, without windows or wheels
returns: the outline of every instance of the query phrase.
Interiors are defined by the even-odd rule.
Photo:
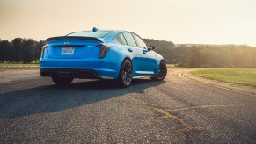
[[[94,27],[92,32],[101,31]],[[133,64],[133,77],[157,76],[159,63],[164,58],[153,50],[148,50],[147,47],[121,44],[114,38],[120,32],[125,31],[111,31],[106,36],[98,38],[102,42],[71,39],[69,37],[62,40],[48,41],[48,47],[43,49],[44,53],[40,59],[40,69],[90,69],[94,70],[103,79],[104,77],[117,79],[122,61],[130,59]],[[69,45],[65,45],[67,43]],[[104,58],[99,58],[101,48],[96,47],[98,45],[110,47]],[[66,49],[63,49],[65,47]],[[74,48],[74,52],[72,52],[72,48]],[[63,51],[66,54],[62,54]]]

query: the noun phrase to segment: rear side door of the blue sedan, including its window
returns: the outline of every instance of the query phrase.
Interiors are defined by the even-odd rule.
[[[140,71],[143,71],[143,49],[137,47],[137,43],[130,32],[122,32],[125,40],[127,41],[128,52],[133,63],[133,74],[139,76]]]

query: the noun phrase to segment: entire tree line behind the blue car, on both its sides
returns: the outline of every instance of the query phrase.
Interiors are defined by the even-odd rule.
[[[256,67],[256,47],[245,45],[178,45],[171,41],[144,39],[169,64],[179,67]],[[45,40],[0,40],[0,62],[39,62]]]

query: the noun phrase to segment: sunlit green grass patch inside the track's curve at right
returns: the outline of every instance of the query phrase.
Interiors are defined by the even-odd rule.
[[[256,68],[220,68],[196,70],[194,76],[201,76],[223,83],[237,83],[256,87]]]

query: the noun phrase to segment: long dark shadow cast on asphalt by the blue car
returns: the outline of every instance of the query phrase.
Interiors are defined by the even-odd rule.
[[[125,89],[112,82],[78,82],[69,86],[56,84],[6,92],[0,95],[0,119],[13,119],[38,113],[60,112],[143,90],[165,82],[136,79]]]

